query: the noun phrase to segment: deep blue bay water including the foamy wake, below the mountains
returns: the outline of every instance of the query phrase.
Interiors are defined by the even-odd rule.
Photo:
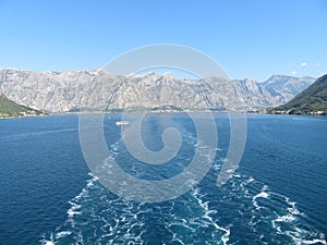
[[[153,150],[162,147],[160,117],[144,121]],[[194,125],[184,114],[166,117],[183,147],[171,169],[148,175],[124,148],[120,115],[105,117],[108,149],[123,170],[159,180],[187,166]],[[229,121],[215,119],[219,147],[208,174],[158,204],[122,199],[89,173],[77,115],[0,120],[0,244],[326,244],[327,118],[247,115],[240,168],[222,187]]]

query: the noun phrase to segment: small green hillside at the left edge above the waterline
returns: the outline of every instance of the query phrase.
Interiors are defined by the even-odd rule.
[[[13,118],[37,114],[43,114],[43,112],[34,110],[29,107],[19,105],[7,98],[4,95],[0,94],[0,118]]]

